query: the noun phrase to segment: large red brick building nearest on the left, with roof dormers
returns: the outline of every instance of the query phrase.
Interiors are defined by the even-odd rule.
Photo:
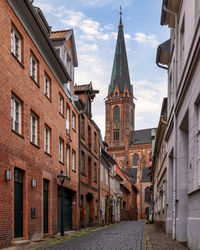
[[[53,32],[51,41],[42,12],[29,0],[2,0],[0,9],[3,247],[18,238],[34,240],[59,232],[61,170],[68,176],[64,227],[78,228],[79,131],[73,99],[73,31]]]

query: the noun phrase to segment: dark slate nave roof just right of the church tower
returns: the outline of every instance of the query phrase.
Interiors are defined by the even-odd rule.
[[[151,143],[151,130],[152,128],[131,131],[130,145]]]

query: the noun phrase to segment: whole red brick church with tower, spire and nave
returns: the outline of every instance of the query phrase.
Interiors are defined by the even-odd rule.
[[[149,167],[154,129],[134,130],[133,86],[130,82],[121,14],[111,82],[105,101],[105,141],[109,145],[108,152],[115,156],[118,165],[129,173],[136,183],[139,191],[137,195],[138,218],[144,218],[145,209],[149,206],[149,200],[145,198],[144,192],[146,186],[151,185]]]

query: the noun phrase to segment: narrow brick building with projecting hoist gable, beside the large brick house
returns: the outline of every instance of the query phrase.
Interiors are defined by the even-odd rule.
[[[80,226],[99,223],[99,148],[100,130],[92,120],[92,101],[98,90],[92,83],[75,85],[74,93],[80,98]]]

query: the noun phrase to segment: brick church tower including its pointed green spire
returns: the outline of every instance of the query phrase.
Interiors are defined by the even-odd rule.
[[[109,145],[110,153],[112,153],[112,149],[114,151],[116,149],[125,149],[131,131],[134,130],[135,105],[133,102],[133,86],[130,82],[128,69],[122,11],[120,11],[113,69],[105,105],[105,141]]]

